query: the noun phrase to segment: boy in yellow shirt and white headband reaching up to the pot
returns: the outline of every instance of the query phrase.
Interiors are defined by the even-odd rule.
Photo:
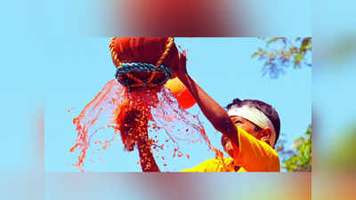
[[[180,64],[173,69],[206,118],[223,133],[223,148],[231,156],[209,159],[182,172],[279,172],[274,145],[279,138],[280,122],[274,108],[260,100],[235,99],[225,111],[188,75],[185,54],[180,54]],[[150,147],[139,142],[138,148],[141,158],[147,160],[148,167],[142,167],[142,171],[159,172]]]

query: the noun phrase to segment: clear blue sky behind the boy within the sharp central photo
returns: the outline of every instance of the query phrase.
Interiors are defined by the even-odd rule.
[[[53,71],[48,84],[42,85],[46,91],[45,171],[77,172],[70,166],[77,159],[76,153],[69,153],[77,136],[72,119],[114,77],[115,67],[110,59],[107,37],[58,40],[53,51],[44,52],[51,63],[48,70],[61,68]],[[288,141],[287,148],[311,124],[311,68],[289,68],[287,74],[278,79],[263,77],[263,61],[250,58],[258,47],[264,45],[263,41],[256,38],[175,38],[175,42],[188,50],[187,68],[190,76],[220,105],[226,106],[234,98],[239,98],[263,100],[276,108],[281,120],[281,133]],[[50,71],[48,74],[51,74]],[[69,108],[75,109],[68,113]],[[197,114],[199,108],[196,105],[189,111]],[[213,145],[222,149],[220,133],[214,131],[202,113],[199,116]],[[162,171],[180,171],[214,157],[214,153],[207,150],[204,144],[180,145],[191,158],[169,159],[166,167],[158,160]],[[88,163],[85,170],[141,172],[136,164],[139,159],[137,152],[125,152],[119,137],[110,148],[101,151],[101,156],[105,164]]]

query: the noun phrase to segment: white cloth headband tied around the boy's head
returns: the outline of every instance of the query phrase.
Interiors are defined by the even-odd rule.
[[[247,105],[244,105],[242,107],[236,107],[232,106],[228,110],[229,116],[241,116],[244,117],[245,119],[251,121],[252,123],[256,124],[260,128],[270,128],[271,129],[271,139],[270,144],[271,147],[274,147],[274,142],[276,140],[276,131],[274,130],[273,124],[271,123],[271,120],[263,114],[259,109],[249,107]]]

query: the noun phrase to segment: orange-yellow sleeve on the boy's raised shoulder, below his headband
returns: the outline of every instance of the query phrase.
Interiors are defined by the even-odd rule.
[[[279,172],[279,156],[269,144],[255,139],[238,126],[239,147],[234,145],[234,163],[247,172]]]

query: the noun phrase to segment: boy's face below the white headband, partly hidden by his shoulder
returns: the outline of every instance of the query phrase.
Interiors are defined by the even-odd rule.
[[[258,140],[261,140],[263,136],[262,134],[263,129],[261,129],[254,123],[248,121],[242,116],[230,116],[230,118],[234,124],[239,125],[240,128],[248,132],[250,135],[254,136]],[[229,154],[229,156],[234,157],[233,155],[234,150],[232,147],[231,140],[229,140],[229,138],[223,134],[221,141],[225,152]]]

